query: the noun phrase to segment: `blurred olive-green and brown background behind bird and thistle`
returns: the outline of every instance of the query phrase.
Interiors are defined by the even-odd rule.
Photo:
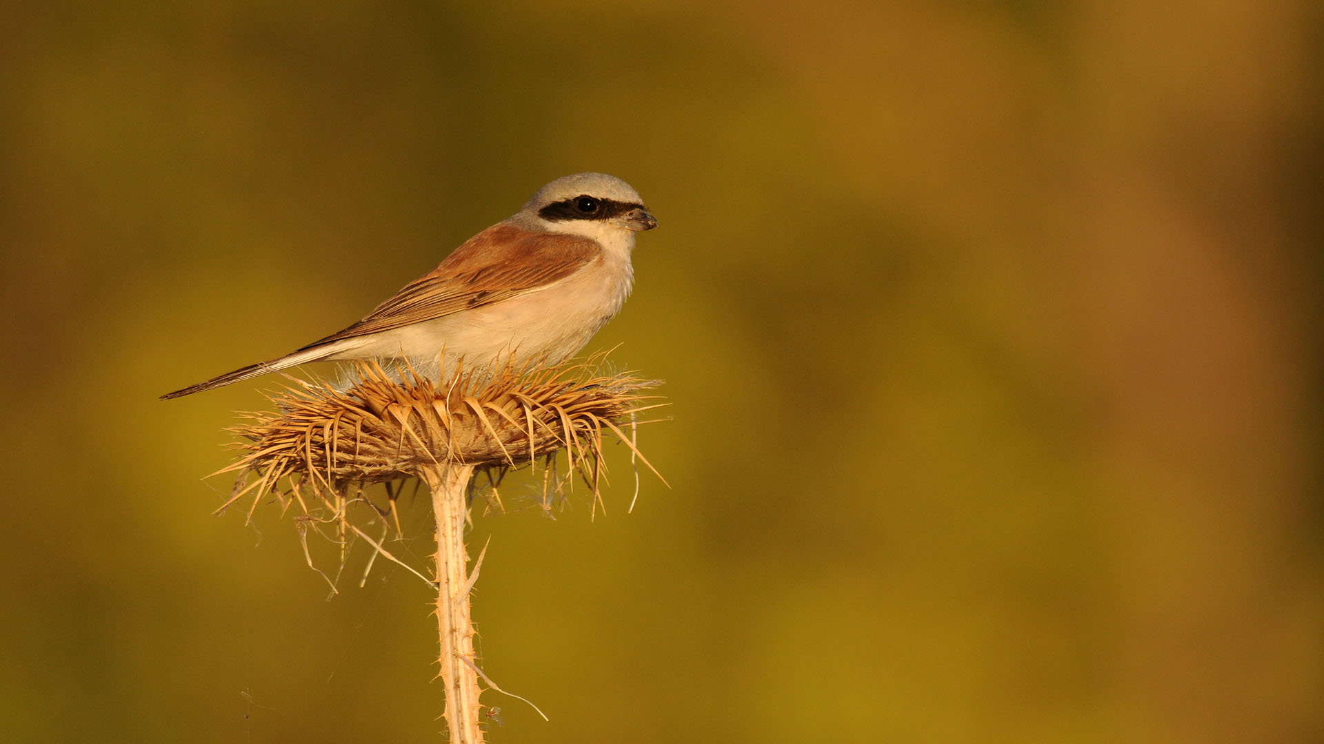
[[[1201,5],[5,5],[3,737],[440,741],[156,396],[596,169],[673,487],[478,520],[491,741],[1324,740],[1324,13]]]

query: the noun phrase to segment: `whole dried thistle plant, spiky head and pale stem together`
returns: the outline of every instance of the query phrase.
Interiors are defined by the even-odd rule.
[[[396,496],[409,479],[428,485],[437,524],[437,625],[441,642],[438,676],[446,688],[445,716],[451,743],[482,741],[479,678],[500,691],[479,669],[474,654],[469,594],[482,555],[469,571],[465,523],[474,494],[474,475],[486,473],[495,485],[512,467],[543,466],[543,502],[573,482],[588,485],[593,508],[601,503],[604,437],[625,442],[632,459],[639,454],[624,426],[662,405],[647,395],[657,383],[628,373],[601,371],[601,356],[559,367],[506,367],[496,372],[453,369],[437,384],[408,364],[384,367],[360,361],[347,384],[332,387],[290,377],[294,383],[269,396],[274,412],[241,414],[232,430],[241,454],[221,473],[236,473],[234,492],[222,511],[248,496],[249,516],[260,502],[274,496],[289,510],[305,536],[314,528],[334,531],[342,545],[363,539],[377,555],[421,573],[391,555],[383,543],[399,534]],[[564,451],[567,473],[559,473]],[[388,503],[375,504],[365,487],[385,483]],[[371,508],[354,508],[365,504]],[[369,524],[381,537],[368,536]],[[486,549],[486,548],[485,548]],[[371,561],[369,561],[371,567]],[[314,567],[316,568],[316,567]],[[326,576],[326,573],[323,573]],[[331,582],[335,589],[335,582]]]

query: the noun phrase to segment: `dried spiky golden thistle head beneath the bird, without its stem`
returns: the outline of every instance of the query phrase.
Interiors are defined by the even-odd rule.
[[[389,488],[438,465],[473,465],[496,482],[507,469],[561,450],[596,503],[604,436],[624,441],[651,469],[622,426],[663,405],[646,395],[655,381],[602,372],[601,361],[457,369],[445,384],[408,363],[357,361],[340,387],[290,377],[291,387],[269,396],[274,412],[241,414],[246,421],[230,429],[241,437],[241,455],[220,473],[238,475],[217,511],[245,495],[256,507],[274,494],[308,515],[311,495],[343,520],[347,496],[371,483]]]

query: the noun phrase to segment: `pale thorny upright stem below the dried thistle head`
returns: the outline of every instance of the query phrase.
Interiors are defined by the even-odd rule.
[[[479,744],[483,732],[478,703],[478,673],[465,659],[474,657],[474,624],[469,614],[469,553],[465,519],[469,515],[471,465],[422,469],[437,516],[437,630],[441,637],[441,679],[446,687],[446,727],[450,744]]]

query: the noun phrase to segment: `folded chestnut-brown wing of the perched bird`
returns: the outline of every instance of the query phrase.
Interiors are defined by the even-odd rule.
[[[589,238],[493,225],[469,238],[440,266],[405,285],[363,320],[299,351],[500,302],[564,279],[600,253],[598,244]]]

